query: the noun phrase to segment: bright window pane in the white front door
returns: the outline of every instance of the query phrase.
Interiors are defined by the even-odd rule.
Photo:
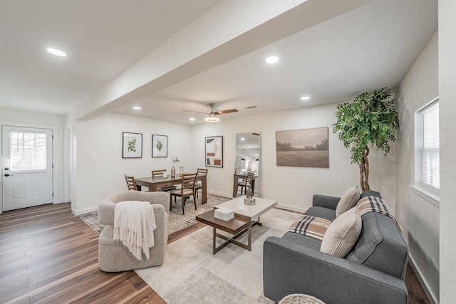
[[[10,169],[46,169],[46,133],[10,132]]]

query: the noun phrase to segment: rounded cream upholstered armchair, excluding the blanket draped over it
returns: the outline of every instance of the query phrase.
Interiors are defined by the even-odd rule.
[[[150,259],[144,256],[139,261],[120,241],[114,241],[114,209],[119,201],[149,201],[155,214],[157,228],[154,230],[155,245],[150,248]],[[165,259],[168,241],[170,194],[167,192],[123,191],[110,194],[98,205],[100,224],[107,225],[98,239],[98,266],[102,271],[118,272],[158,266]]]

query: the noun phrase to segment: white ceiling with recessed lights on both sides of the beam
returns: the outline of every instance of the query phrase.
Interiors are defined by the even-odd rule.
[[[0,108],[67,114],[217,2],[1,1]],[[372,1],[115,111],[193,124],[207,115],[182,110],[209,102],[239,110],[224,120],[351,100],[397,87],[436,30],[437,0]],[[280,61],[266,65],[271,54]]]

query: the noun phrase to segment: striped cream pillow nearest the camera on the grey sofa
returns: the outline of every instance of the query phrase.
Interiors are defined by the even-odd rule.
[[[363,221],[355,206],[331,222],[321,241],[320,251],[345,258],[358,241],[362,227]]]

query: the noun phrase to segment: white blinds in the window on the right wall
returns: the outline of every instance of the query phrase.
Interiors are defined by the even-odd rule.
[[[423,110],[423,184],[440,189],[439,103]]]

